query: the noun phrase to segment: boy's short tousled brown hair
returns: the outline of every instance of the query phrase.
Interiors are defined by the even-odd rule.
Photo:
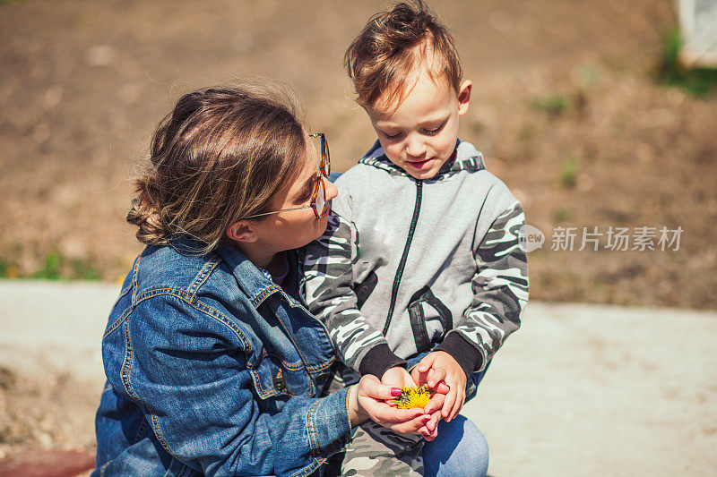
[[[421,0],[396,4],[390,12],[376,13],[354,38],[344,55],[344,65],[354,83],[357,102],[374,106],[378,98],[400,103],[405,79],[428,58],[426,68],[433,81],[441,76],[456,92],[462,67],[454,38]]]

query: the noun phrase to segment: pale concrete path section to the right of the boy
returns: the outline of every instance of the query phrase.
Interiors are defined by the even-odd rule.
[[[493,476],[717,475],[717,313],[532,302],[463,409]]]

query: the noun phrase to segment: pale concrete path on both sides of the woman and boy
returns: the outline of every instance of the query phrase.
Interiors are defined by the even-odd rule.
[[[0,281],[0,366],[101,386],[117,286]],[[531,302],[463,413],[490,475],[717,474],[717,312]]]

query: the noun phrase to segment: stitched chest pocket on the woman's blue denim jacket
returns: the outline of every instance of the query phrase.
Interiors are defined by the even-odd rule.
[[[272,396],[314,396],[316,388],[303,362],[289,363],[275,353],[263,350],[260,359],[249,369],[256,394],[262,399]]]

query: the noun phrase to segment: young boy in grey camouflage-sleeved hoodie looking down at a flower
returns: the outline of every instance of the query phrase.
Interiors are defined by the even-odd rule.
[[[336,181],[333,217],[307,249],[307,302],[345,364],[346,384],[374,374],[402,388],[450,388],[420,429],[433,440],[520,326],[528,300],[523,209],[480,153],[458,140],[472,84],[462,81],[450,32],[425,4],[372,17],[345,63],[378,141]],[[369,423],[354,436],[342,470],[435,473],[427,451],[441,438],[423,449],[425,441],[411,437]]]

